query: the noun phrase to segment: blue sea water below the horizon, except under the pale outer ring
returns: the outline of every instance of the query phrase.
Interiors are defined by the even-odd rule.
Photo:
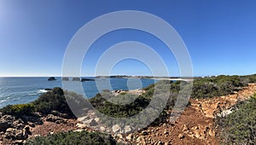
[[[44,89],[61,87],[61,78],[0,78],[0,108],[9,104],[32,102],[42,95]],[[110,82],[110,83],[109,83]],[[154,84],[154,79],[96,78],[96,81],[82,82],[84,94],[93,97],[101,90],[136,90]],[[109,88],[111,86],[111,88]]]

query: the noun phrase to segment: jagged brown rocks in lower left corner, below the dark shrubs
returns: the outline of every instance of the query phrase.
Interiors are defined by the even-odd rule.
[[[33,129],[44,125],[45,121],[53,122],[54,126],[68,124],[67,119],[63,118],[68,118],[67,113],[56,111],[52,113],[46,117],[41,113],[32,113],[29,116],[21,115],[20,118],[0,113],[0,144],[22,144],[29,136],[32,136]]]

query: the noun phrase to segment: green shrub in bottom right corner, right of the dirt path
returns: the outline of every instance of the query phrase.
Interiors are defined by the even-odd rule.
[[[236,110],[224,119],[218,119],[224,144],[256,143],[256,95],[240,102]]]

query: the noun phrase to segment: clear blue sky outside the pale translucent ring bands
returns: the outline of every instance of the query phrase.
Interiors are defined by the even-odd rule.
[[[155,14],[171,24],[189,50],[195,76],[256,73],[256,2],[253,0],[0,0],[0,76],[61,76],[70,39],[90,20],[117,10]],[[99,38],[84,57],[81,72],[94,74],[104,49],[122,41],[154,48],[179,76],[164,44],[145,32],[122,30]],[[150,75],[142,62],[125,60],[113,74]]]

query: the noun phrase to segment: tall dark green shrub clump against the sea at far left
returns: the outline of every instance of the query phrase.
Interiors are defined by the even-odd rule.
[[[67,113],[70,118],[76,118],[67,104],[67,100],[69,104],[76,107],[74,109],[84,111],[82,108],[85,106],[85,99],[83,96],[69,91],[65,92],[65,96],[64,91],[61,88],[54,88],[39,96],[34,102],[8,105],[1,108],[0,112],[20,117],[23,114],[31,115],[31,113],[34,112],[49,114],[52,111],[58,111],[60,113]]]

